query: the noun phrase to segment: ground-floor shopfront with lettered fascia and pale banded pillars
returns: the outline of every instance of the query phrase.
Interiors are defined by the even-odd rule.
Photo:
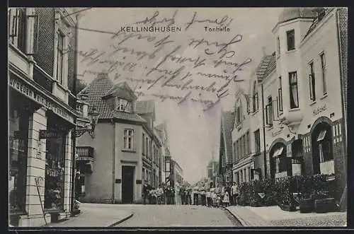
[[[8,75],[10,224],[69,217],[76,111],[30,78]]]

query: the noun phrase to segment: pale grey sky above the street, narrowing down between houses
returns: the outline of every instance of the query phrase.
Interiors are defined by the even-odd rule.
[[[232,110],[236,91],[248,90],[264,53],[275,50],[271,30],[281,11],[89,8],[79,21],[78,78],[89,83],[95,73],[108,71],[115,83],[126,81],[139,100],[155,100],[155,125],[166,121],[171,156],[194,183],[206,177],[212,156],[219,157],[221,112]],[[124,32],[142,26],[181,31]],[[229,31],[208,31],[224,27]]]

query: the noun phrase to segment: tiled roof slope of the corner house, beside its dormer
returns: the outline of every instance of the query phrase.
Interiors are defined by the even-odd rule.
[[[103,96],[108,93],[109,90],[114,88],[113,81],[110,80],[108,74],[98,74],[96,78],[93,79],[91,83],[89,83],[86,88],[81,90],[78,93],[78,96],[85,94],[86,95],[86,103],[89,103],[89,112],[93,107],[100,113],[100,119],[125,119],[135,122],[146,122],[145,119],[137,115],[136,113],[128,113],[128,112],[119,112],[115,110],[111,110],[108,102]]]

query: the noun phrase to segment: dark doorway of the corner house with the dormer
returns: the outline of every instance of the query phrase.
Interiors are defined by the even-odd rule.
[[[131,204],[134,192],[134,167],[122,166],[122,203]]]

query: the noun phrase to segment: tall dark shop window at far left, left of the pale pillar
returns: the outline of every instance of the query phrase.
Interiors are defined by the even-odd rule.
[[[23,103],[21,103],[23,104]],[[28,156],[28,124],[30,114],[10,104],[8,203],[10,213],[25,212],[25,192]]]

